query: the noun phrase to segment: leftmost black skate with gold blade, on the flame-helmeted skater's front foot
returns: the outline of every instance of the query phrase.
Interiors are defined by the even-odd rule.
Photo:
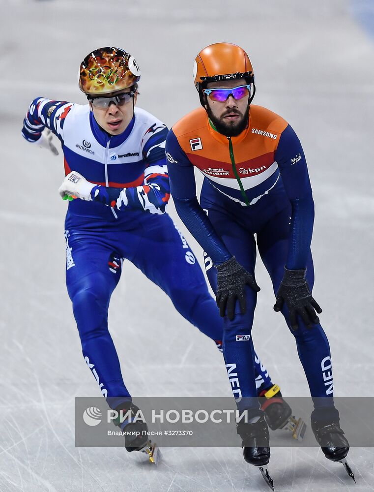
[[[121,428],[124,434],[126,451],[129,453],[142,451],[151,463],[157,464],[161,457],[160,449],[148,438],[148,427],[143,419],[139,418],[139,407],[132,401],[128,401],[119,405],[115,410],[118,412],[118,417],[114,423]]]

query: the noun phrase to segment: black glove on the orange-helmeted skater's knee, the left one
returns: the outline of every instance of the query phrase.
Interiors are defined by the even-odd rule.
[[[255,277],[247,272],[232,256],[230,260],[221,263],[217,267],[217,306],[220,308],[220,315],[227,315],[230,320],[234,319],[236,299],[239,300],[241,313],[247,310],[244,286],[249,285],[255,292],[259,292],[259,286]]]

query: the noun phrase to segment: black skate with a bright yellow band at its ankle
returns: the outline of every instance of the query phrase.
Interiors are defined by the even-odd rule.
[[[306,431],[306,424],[302,419],[292,415],[291,407],[282,397],[281,389],[277,384],[262,390],[259,397],[261,410],[265,412],[265,420],[272,431],[285,429],[292,433],[292,437],[301,441]]]

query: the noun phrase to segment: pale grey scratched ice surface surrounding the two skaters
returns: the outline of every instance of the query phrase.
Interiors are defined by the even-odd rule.
[[[164,449],[154,469],[122,449],[74,447],[74,398],[99,392],[81,356],[64,285],[62,159],[24,141],[22,120],[38,95],[84,103],[79,63],[95,47],[117,45],[142,68],[139,105],[170,126],[199,104],[192,62],[200,49],[217,41],[247,49],[255,102],[291,123],[307,156],[316,202],[314,293],[336,395],[372,396],[370,36],[345,0],[1,0],[0,7],[0,491],[268,490],[239,448]],[[307,396],[293,338],[272,310],[260,264],[257,277],[256,348],[284,394]],[[109,323],[134,396],[230,396],[211,341],[128,262]],[[274,448],[270,471],[277,491],[373,491],[373,448],[352,449],[349,461],[356,486],[317,448]]]

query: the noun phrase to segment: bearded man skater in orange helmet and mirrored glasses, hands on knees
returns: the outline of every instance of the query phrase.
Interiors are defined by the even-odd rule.
[[[306,374],[316,440],[352,476],[332,398],[330,347],[317,316],[322,310],[312,296],[314,201],[300,140],[285,119],[252,104],[253,65],[239,46],[216,43],[201,50],[193,77],[202,107],[175,123],[166,141],[171,193],[178,215],[211,260],[207,276],[225,320],[223,352],[230,381],[235,369],[233,395],[238,409],[250,415],[237,427],[244,458],[262,468],[270,459],[251,364],[259,252],[273,284],[274,309],[285,318]],[[204,177],[200,203],[194,167]]]

